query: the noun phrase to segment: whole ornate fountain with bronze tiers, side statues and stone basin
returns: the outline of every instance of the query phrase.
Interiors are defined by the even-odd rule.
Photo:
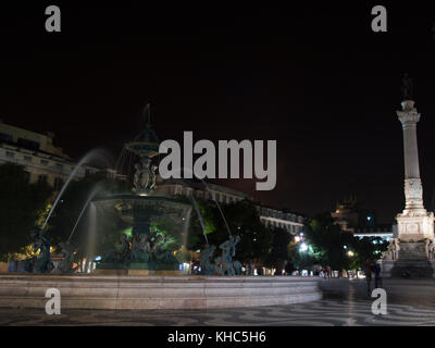
[[[174,276],[179,274],[179,263],[174,257],[176,247],[166,239],[187,233],[186,222],[192,207],[156,192],[157,167],[151,163],[158,154],[159,140],[149,122],[124,150],[136,158],[132,190],[97,197],[91,203],[95,204],[92,211],[104,220],[115,216],[130,226],[130,236],[116,229],[117,247],[102,253],[92,274],[77,274],[74,248],[69,241],[61,245],[64,260],[51,272],[50,243],[44,231],[35,232],[34,250],[40,252],[28,261],[29,273],[0,274],[0,306],[42,309],[47,302],[47,288],[57,288],[62,294],[62,310],[257,307],[322,298],[315,278],[239,276],[241,264],[233,260],[239,237],[233,237],[229,228],[229,239],[219,249],[209,245],[204,233],[207,247],[201,251],[202,275]],[[196,206],[194,198],[192,203]],[[199,211],[197,214],[201,220]],[[161,220],[169,222],[172,229],[156,231],[154,226]],[[215,253],[220,256],[214,257]]]

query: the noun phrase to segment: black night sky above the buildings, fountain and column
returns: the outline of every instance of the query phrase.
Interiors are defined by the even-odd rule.
[[[378,2],[235,8],[222,2],[17,4],[1,11],[0,117],[78,159],[116,158],[144,126],[160,139],[277,140],[277,186],[224,184],[277,208],[313,214],[357,195],[378,222],[403,209],[400,80],[413,78],[425,206],[435,189],[435,12]],[[412,4],[411,4],[412,3]],[[58,4],[62,32],[45,30]]]

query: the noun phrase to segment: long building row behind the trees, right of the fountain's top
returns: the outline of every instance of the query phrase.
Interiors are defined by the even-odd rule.
[[[214,184],[207,184],[206,187],[202,182],[196,182],[194,179],[172,178],[160,181],[156,190],[163,195],[171,196],[181,195],[188,197],[189,195],[194,195],[195,198],[206,201],[216,200],[221,204],[229,204],[244,199],[250,199],[248,195],[234,189]],[[254,204],[260,214],[260,220],[265,226],[271,228],[284,228],[291,235],[297,235],[303,229],[304,217],[302,215],[260,203]]]

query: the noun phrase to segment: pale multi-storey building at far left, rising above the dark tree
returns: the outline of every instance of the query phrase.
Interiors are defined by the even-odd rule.
[[[25,167],[29,183],[46,182],[59,190],[74,170],[75,162],[62,148],[53,145],[52,133],[40,134],[4,124],[0,121],[0,164],[15,163]],[[76,177],[98,169],[83,166]]]

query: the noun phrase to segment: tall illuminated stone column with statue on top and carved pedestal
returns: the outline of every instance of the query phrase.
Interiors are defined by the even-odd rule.
[[[405,75],[402,83],[402,110],[397,115],[403,129],[405,209],[396,216],[398,235],[384,252],[382,269],[384,276],[433,277],[434,213],[423,204],[417,144],[420,114],[412,100],[412,80]]]

